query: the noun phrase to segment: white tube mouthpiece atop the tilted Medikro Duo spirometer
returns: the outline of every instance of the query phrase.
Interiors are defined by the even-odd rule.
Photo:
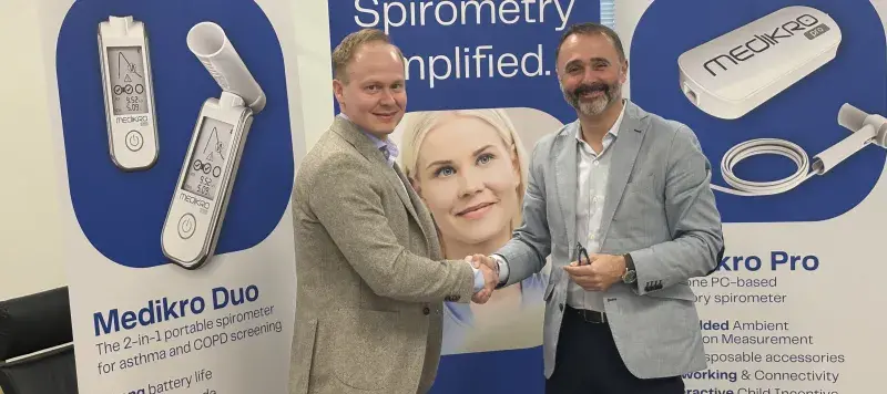
[[[187,48],[225,92],[236,94],[254,113],[265,107],[265,93],[243,63],[222,27],[201,22],[187,32]]]

